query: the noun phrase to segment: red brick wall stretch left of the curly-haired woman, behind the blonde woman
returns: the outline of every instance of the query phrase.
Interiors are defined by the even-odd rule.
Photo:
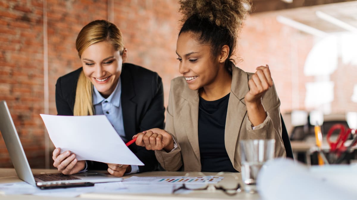
[[[0,100],[6,100],[22,146],[34,168],[45,167],[44,49],[48,49],[49,114],[56,114],[58,77],[81,66],[75,40],[81,28],[96,19],[110,19],[122,31],[128,62],[158,72],[165,83],[178,76],[176,1],[47,0],[47,46],[44,46],[44,4],[38,0],[0,0]],[[109,5],[109,6],[108,6]],[[51,146],[50,154],[53,146]],[[52,162],[51,162],[52,164]],[[0,167],[12,167],[0,140]]]

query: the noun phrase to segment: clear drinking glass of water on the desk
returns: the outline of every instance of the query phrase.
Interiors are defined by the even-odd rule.
[[[244,190],[256,193],[257,176],[263,164],[274,158],[275,140],[241,140],[241,174]]]

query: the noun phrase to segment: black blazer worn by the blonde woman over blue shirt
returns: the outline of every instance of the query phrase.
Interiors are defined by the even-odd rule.
[[[57,80],[57,115],[73,115],[77,81],[81,71],[82,68],[79,68]],[[120,79],[121,108],[126,139],[129,141],[136,133],[150,128],[164,129],[164,90],[159,75],[143,67],[125,63]],[[157,168],[158,163],[154,151],[135,144],[130,145],[129,148],[145,164],[139,166],[140,172]],[[88,169],[106,170],[108,168],[105,163],[92,161],[87,163]]]

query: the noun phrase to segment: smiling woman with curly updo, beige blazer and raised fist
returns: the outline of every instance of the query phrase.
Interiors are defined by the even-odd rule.
[[[232,62],[246,0],[181,0],[179,72],[171,81],[165,130],[137,134],[166,170],[237,172],[240,140],[275,139],[285,157],[280,100],[268,65],[247,73]]]

